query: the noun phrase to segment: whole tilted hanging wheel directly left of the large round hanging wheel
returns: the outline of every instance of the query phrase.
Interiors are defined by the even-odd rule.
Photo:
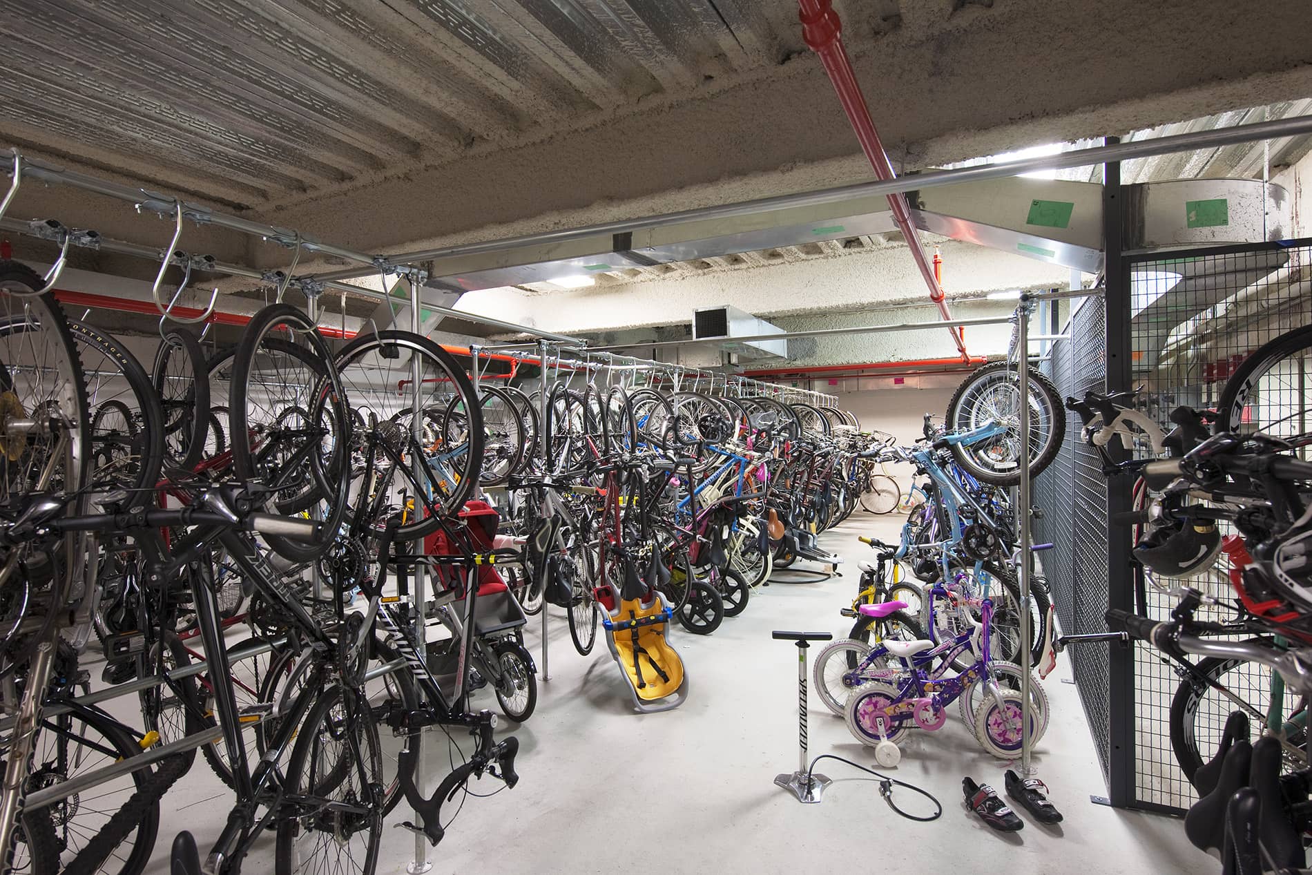
[[[228,407],[236,478],[266,487],[265,506],[272,513],[308,510],[323,521],[312,543],[264,539],[293,561],[318,559],[346,510],[352,417],[314,321],[290,304],[257,312],[232,357]]]

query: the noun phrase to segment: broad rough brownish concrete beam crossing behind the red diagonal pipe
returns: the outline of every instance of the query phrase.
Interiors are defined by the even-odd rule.
[[[866,47],[857,73],[900,169],[1119,134],[1312,92],[1296,1],[939,3]],[[951,9],[960,7],[955,14]],[[946,17],[945,17],[946,16]],[[937,22],[937,24],[935,24]],[[1168,30],[1170,39],[1160,35]],[[1224,34],[1225,51],[1199,51]],[[1114,49],[1109,51],[1109,46]],[[367,188],[325,186],[260,218],[365,251],[442,245],[866,178],[819,62],[787,63],[476,143]]]

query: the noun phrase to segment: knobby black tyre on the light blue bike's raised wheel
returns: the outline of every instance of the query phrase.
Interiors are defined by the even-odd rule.
[[[1000,409],[998,404],[993,404],[989,409],[974,409],[963,407],[967,400],[971,399],[971,394],[979,387],[981,391],[987,391],[992,387],[1001,387],[1010,384],[1010,376],[1014,369],[1008,362],[992,362],[989,365],[983,365],[976,367],[971,374],[962,380],[960,386],[953,394],[951,400],[947,403],[947,413],[945,421],[949,432],[967,432],[972,428],[979,428],[988,422],[989,420],[1002,417],[1002,425],[1008,426],[1008,430],[998,438],[993,438],[987,442],[976,443],[971,447],[966,447],[960,443],[953,443],[951,451],[953,458],[960,464],[966,471],[974,476],[976,480],[983,480],[984,483],[992,483],[1000,487],[1013,487],[1021,481],[1021,470],[1017,462],[1019,455],[1018,447],[1013,450],[1009,446],[1012,441],[1019,442],[1019,416],[1013,413],[1008,415],[1004,409]],[[1046,467],[1052,463],[1056,458],[1057,451],[1061,449],[1061,442],[1065,438],[1065,405],[1057,392],[1056,386],[1052,384],[1047,376],[1030,367],[1029,380],[1030,380],[1030,404],[1031,404],[1031,418],[1034,418],[1034,408],[1039,418],[1039,443],[1038,451],[1030,453],[1030,476],[1038,476]],[[1006,390],[1004,390],[1006,391]],[[1012,387],[1014,392],[1014,387]],[[994,396],[996,400],[1000,396]],[[1001,407],[1006,405],[1006,400],[1002,401]],[[1014,416],[1017,422],[1012,424],[1009,416]],[[1043,418],[1047,417],[1047,430],[1043,430]],[[1033,424],[1031,424],[1033,425]],[[1031,443],[1035,441],[1034,428],[1030,430]],[[985,466],[980,460],[980,454],[993,453],[996,462],[991,466]]]

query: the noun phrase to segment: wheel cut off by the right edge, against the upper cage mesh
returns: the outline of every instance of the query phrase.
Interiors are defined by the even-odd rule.
[[[1312,325],[1295,328],[1257,348],[1221,390],[1216,432],[1263,432],[1292,437],[1312,430]]]

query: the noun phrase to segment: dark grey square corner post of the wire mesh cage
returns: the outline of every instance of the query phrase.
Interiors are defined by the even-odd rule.
[[[1105,143],[1119,142],[1109,136]],[[1124,206],[1120,190],[1120,164],[1102,167],[1102,240],[1106,285],[1107,392],[1131,384],[1130,278],[1122,253]],[[1109,446],[1113,453],[1119,447]],[[1107,514],[1130,510],[1130,483],[1126,478],[1107,479]],[[1107,607],[1134,610],[1132,560],[1130,539],[1123,526],[1107,529]],[[1076,630],[1093,631],[1093,630]],[[1113,805],[1135,802],[1135,652],[1134,644],[1107,648],[1107,796]]]

